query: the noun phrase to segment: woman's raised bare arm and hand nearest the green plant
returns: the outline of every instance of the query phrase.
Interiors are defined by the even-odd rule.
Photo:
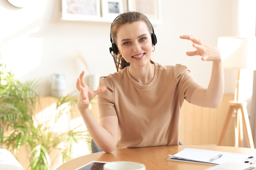
[[[76,88],[80,91],[78,99],[78,110],[83,121],[94,139],[95,143],[105,152],[112,152],[117,146],[118,140],[118,119],[117,116],[106,116],[100,118],[100,124],[93,117],[88,109],[90,101],[99,93],[106,91],[106,87],[91,91],[83,81],[84,71],[76,81]]]

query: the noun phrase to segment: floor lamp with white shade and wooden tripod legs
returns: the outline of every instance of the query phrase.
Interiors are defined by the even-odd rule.
[[[236,68],[237,80],[234,101],[229,101],[229,109],[217,141],[221,145],[227,130],[227,125],[234,118],[235,146],[243,147],[243,130],[247,140],[247,147],[254,148],[252,130],[247,113],[247,102],[239,97],[240,69],[256,68],[256,38],[219,37],[218,49],[222,55],[223,67]]]

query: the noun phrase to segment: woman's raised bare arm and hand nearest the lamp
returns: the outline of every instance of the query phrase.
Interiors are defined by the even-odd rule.
[[[202,107],[216,108],[224,93],[224,73],[219,50],[215,46],[202,43],[191,35],[182,35],[182,39],[191,40],[196,51],[186,52],[189,56],[200,55],[203,61],[212,61],[211,79],[208,87],[200,86],[191,95],[190,102]]]

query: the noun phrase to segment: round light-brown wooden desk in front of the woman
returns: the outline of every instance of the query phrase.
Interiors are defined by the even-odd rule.
[[[56,170],[74,170],[93,160],[97,161],[135,161],[145,164],[146,170],[204,170],[212,165],[199,163],[187,163],[178,161],[167,161],[168,154],[174,155],[184,148],[198,148],[216,150],[223,152],[235,152],[242,154],[255,154],[256,149],[238,148],[231,146],[212,146],[212,145],[179,145],[179,146],[156,146],[146,148],[125,148],[117,149],[112,153],[98,152],[85,155],[67,161]]]

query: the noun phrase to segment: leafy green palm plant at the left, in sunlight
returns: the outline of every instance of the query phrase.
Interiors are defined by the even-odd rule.
[[[40,97],[35,92],[37,83],[20,82],[0,63],[0,146],[13,152],[14,156],[25,147],[28,169],[50,170],[52,159],[49,155],[53,150],[59,150],[65,162],[73,159],[74,144],[85,141],[90,145],[91,137],[87,130],[77,130],[79,126],[68,132],[56,132],[53,126],[49,126],[50,120],[38,120],[35,113],[36,103],[40,103]],[[72,95],[58,97],[57,111],[52,113],[54,121],[59,121],[63,114],[72,113],[70,107],[74,104],[76,98]]]

